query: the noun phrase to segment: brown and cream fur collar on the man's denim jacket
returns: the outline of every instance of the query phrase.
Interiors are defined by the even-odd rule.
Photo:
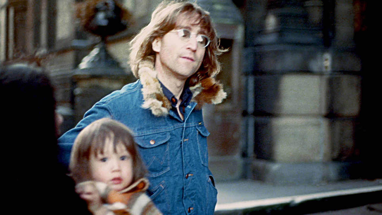
[[[142,108],[150,109],[154,116],[167,116],[171,103],[163,94],[153,63],[150,61],[139,63],[138,76],[143,86]],[[197,103],[197,109],[201,109],[204,103],[219,104],[227,97],[222,84],[214,78],[202,79],[190,87],[190,90],[193,93],[191,101]]]

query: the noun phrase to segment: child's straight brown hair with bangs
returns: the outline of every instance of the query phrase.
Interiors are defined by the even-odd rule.
[[[112,138],[115,152],[117,145],[121,143],[130,153],[133,160],[133,181],[146,175],[147,170],[136,149],[131,130],[118,121],[102,118],[86,126],[74,141],[69,170],[76,183],[92,180],[89,168],[90,154],[96,155],[99,152],[103,154],[107,138]]]

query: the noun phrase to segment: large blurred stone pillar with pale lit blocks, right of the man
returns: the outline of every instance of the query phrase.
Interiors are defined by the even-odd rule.
[[[336,27],[325,42],[333,33],[322,21],[330,4],[269,0],[266,9],[245,57],[252,59],[245,77],[247,177],[272,183],[357,177],[361,78],[360,60],[348,48],[352,26],[336,19],[331,24],[346,32]],[[343,7],[332,9],[351,19]]]

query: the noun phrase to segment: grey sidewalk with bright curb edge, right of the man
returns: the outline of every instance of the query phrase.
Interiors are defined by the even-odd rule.
[[[232,181],[216,184],[215,215],[312,213],[332,207],[356,207],[382,202],[382,179],[348,180],[320,185],[271,185],[260,181]]]

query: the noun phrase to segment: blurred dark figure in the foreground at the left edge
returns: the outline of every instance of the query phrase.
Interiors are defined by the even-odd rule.
[[[0,93],[5,205],[16,214],[90,214],[56,161],[60,119],[49,76],[26,63],[3,66]]]

